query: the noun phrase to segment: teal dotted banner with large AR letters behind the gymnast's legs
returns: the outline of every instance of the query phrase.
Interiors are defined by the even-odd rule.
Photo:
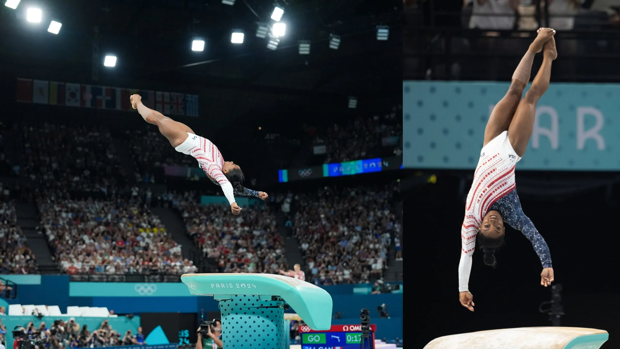
[[[404,81],[404,167],[476,168],[490,112],[509,85]],[[618,171],[619,116],[620,84],[552,83],[538,101],[533,134],[516,167]]]

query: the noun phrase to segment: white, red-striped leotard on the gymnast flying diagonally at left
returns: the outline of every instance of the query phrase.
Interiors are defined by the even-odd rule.
[[[243,193],[240,193],[236,189],[232,188],[232,184],[222,172],[224,157],[222,156],[222,153],[219,152],[218,147],[216,147],[210,140],[187,132],[187,139],[178,147],[175,147],[175,150],[187,155],[192,155],[196,158],[200,168],[205,171],[205,174],[208,177],[211,178],[211,181],[222,187],[224,196],[226,196],[226,199],[228,199],[230,204],[235,202],[234,194],[259,196],[259,192],[247,188],[245,188]]]

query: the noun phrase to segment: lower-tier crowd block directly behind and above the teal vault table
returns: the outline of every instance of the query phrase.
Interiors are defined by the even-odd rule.
[[[228,206],[201,205],[194,193],[177,196],[174,203],[190,238],[223,273],[278,274],[288,269],[277,220],[267,205],[231,215]]]

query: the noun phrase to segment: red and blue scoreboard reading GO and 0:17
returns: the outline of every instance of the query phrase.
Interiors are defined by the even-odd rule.
[[[376,325],[370,325],[373,332],[369,342],[374,345]],[[360,349],[361,325],[332,325],[329,330],[315,331],[308,326],[299,327],[301,349]]]

